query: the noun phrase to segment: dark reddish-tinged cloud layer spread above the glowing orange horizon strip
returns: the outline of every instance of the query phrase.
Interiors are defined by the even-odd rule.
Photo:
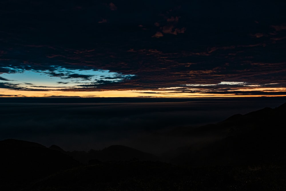
[[[102,85],[93,84],[96,80],[90,80],[90,88],[77,86],[77,91],[141,91],[202,82],[216,84],[227,80],[253,84],[275,82],[281,87],[286,86],[285,24],[279,24],[285,21],[277,16],[284,7],[279,3],[273,2],[270,7],[259,10],[245,9],[242,14],[236,10],[238,8],[217,12],[207,4],[191,6],[192,3],[187,1],[180,3],[180,9],[175,9],[177,5],[170,1],[163,4],[130,1],[122,7],[118,4],[122,11],[110,11],[110,7],[116,7],[116,2],[102,4],[101,1],[84,3],[75,0],[71,1],[72,9],[65,7],[65,10],[59,10],[58,6],[51,6],[50,1],[40,7],[22,6],[19,0],[5,1],[7,9],[1,12],[2,18],[6,19],[0,31],[0,42],[4,42],[0,43],[0,76],[11,79],[6,74],[45,71],[49,79],[59,78],[53,86],[60,86],[60,82],[77,83],[68,84],[76,86],[85,84],[79,82],[88,80],[88,75],[93,74],[79,72],[83,70],[136,75]],[[238,5],[244,3],[239,1]],[[82,11],[74,10],[76,6],[82,7]],[[272,6],[275,9],[271,11]],[[269,10],[269,14],[263,14],[262,10]],[[12,12],[20,14],[20,20],[10,17]],[[31,20],[27,12],[37,17]],[[47,20],[42,13],[53,14]],[[234,22],[221,19],[223,15],[228,15]],[[258,18],[250,18],[252,15],[258,15]],[[245,22],[245,18],[259,23]],[[104,19],[110,24],[94,24]],[[38,25],[39,21],[45,21],[45,25]],[[139,25],[146,30],[143,31]],[[189,29],[190,34],[187,35]],[[216,67],[220,68],[214,70]],[[68,73],[68,70],[78,71]],[[69,76],[71,74],[87,76],[80,78]],[[114,77],[117,76],[106,75],[98,77],[98,80],[112,80],[108,78]],[[23,82],[25,80],[17,82],[18,88],[24,86]],[[51,85],[37,83],[35,86]]]

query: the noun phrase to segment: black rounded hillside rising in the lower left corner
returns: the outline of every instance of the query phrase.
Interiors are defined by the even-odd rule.
[[[0,141],[0,190],[17,190],[49,174],[78,166],[72,157],[38,143],[6,139]]]

